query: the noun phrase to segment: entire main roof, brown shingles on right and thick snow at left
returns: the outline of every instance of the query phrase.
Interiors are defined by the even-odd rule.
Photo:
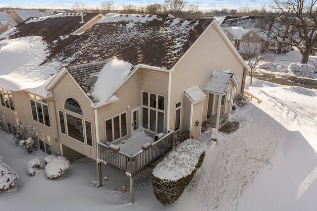
[[[84,22],[96,15],[88,13]],[[78,14],[32,18],[0,35],[0,58],[6,64],[0,84],[12,91],[35,90],[63,66],[114,57],[134,67],[142,64],[168,70],[211,22],[168,19],[167,15],[107,14],[78,36],[72,35],[83,25]]]

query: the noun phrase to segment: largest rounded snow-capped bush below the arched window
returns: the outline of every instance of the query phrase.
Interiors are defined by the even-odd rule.
[[[59,178],[66,172],[69,165],[70,163],[65,157],[57,156],[45,166],[46,176],[50,179]]]

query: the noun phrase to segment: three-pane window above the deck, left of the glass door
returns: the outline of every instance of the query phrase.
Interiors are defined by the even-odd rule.
[[[106,141],[115,141],[127,135],[127,113],[106,120]]]

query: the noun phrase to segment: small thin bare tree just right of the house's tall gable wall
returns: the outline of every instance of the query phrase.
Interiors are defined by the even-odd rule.
[[[249,75],[251,77],[250,84],[252,84],[253,71],[257,70],[260,63],[268,58],[266,54],[267,48],[265,42],[256,42],[252,39],[240,43],[240,54],[250,67]]]

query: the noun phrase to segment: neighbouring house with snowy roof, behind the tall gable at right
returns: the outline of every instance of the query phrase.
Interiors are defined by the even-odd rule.
[[[227,16],[221,18],[221,27],[240,53],[245,53],[250,43],[258,52],[267,49],[284,53],[292,47],[287,38],[272,36],[274,27],[264,17]]]

